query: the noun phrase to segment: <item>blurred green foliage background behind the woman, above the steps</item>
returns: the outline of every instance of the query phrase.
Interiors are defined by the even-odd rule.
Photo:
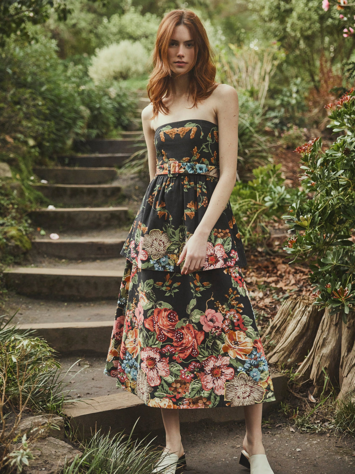
[[[272,168],[273,147],[299,146],[312,129],[330,137],[324,105],[352,85],[345,65],[354,60],[354,37],[343,36],[336,8],[325,11],[319,0],[3,0],[0,162],[9,165],[11,176],[0,176],[0,210],[12,218],[0,221],[2,258],[4,249],[13,247],[9,236],[15,235],[16,219],[23,235],[30,232],[21,210],[46,202],[31,186],[37,181],[33,166],[54,164],[57,155],[85,140],[117,137],[129,126],[137,92],[145,90],[151,72],[159,23],[176,8],[193,9],[203,20],[216,57],[216,80],[239,92],[236,190],[244,186],[245,194],[254,183],[244,197],[256,201],[256,187],[265,184],[263,196],[275,201],[280,195],[282,205],[275,201],[268,208],[276,217],[289,205],[285,194],[292,201],[300,191],[277,188],[284,178]],[[146,158],[141,153],[135,161],[138,170],[146,168]],[[258,166],[266,166],[266,177],[271,173],[267,182],[253,174]],[[17,185],[11,187],[13,181]],[[263,240],[264,224],[249,224],[247,240]],[[264,230],[258,234],[258,228]]]

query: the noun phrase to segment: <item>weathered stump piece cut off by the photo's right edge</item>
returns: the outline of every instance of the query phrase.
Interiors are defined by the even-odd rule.
[[[355,401],[355,311],[349,312],[347,322],[343,324],[339,380],[341,390],[337,398],[343,398],[352,391],[350,397]]]

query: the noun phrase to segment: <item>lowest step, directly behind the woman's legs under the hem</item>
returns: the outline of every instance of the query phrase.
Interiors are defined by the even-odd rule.
[[[105,375],[103,375],[105,376]],[[272,374],[276,401],[263,403],[263,414],[279,405],[287,396],[287,378],[284,374]],[[113,380],[115,383],[115,379]],[[111,434],[125,431],[127,434],[139,418],[135,434],[147,434],[163,429],[160,410],[152,410],[130,392],[119,389],[118,393],[83,399],[64,405],[64,413],[69,417],[71,427],[83,438],[89,438],[92,430],[102,428]],[[180,410],[180,423],[194,426],[202,420],[218,423],[241,421],[244,408],[222,407],[203,410]],[[91,435],[92,436],[92,435]]]

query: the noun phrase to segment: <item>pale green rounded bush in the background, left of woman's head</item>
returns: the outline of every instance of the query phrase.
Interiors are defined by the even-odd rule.
[[[98,84],[103,80],[128,79],[147,70],[148,54],[139,41],[125,39],[105,46],[92,57],[89,76]]]

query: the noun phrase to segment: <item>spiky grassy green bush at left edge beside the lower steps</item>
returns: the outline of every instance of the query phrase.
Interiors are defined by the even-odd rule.
[[[13,317],[16,313],[13,315]],[[13,318],[12,317],[12,318]],[[11,319],[12,319],[11,318]],[[62,382],[61,365],[54,350],[33,330],[21,330],[0,317],[0,471],[21,472],[28,459],[33,459],[30,445],[46,428],[56,428],[50,420],[43,427],[34,426],[22,437],[14,450],[13,443],[22,433],[19,424],[24,411],[62,414],[64,399],[71,390],[64,390],[70,381]],[[70,369],[65,373],[65,375]]]

